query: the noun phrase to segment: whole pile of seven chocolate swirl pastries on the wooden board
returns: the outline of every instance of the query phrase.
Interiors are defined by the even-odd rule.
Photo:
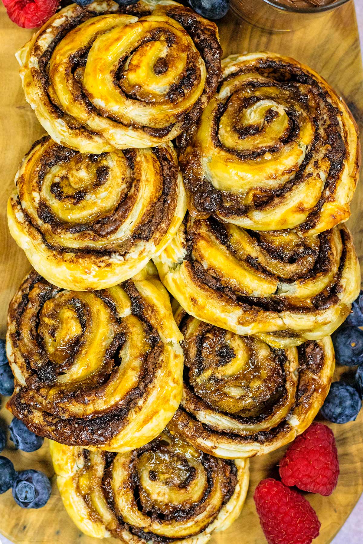
[[[216,25],[171,0],[69,5],[17,53],[48,134],[8,203],[34,267],[9,307],[8,409],[51,439],[90,536],[229,527],[248,458],[322,406],[359,292],[346,104],[293,59],[221,57]]]

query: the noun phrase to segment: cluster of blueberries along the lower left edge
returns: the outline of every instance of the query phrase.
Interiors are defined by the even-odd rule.
[[[5,342],[0,340],[0,394],[11,395],[14,391],[14,378],[5,353]],[[35,452],[44,442],[27,429],[22,421],[13,418],[9,425],[10,440],[16,449],[23,452]],[[7,443],[5,432],[0,428],[0,452]],[[40,471],[27,470],[16,472],[10,459],[0,455],[0,493],[13,489],[15,502],[22,508],[41,508],[51,496],[49,478]]]

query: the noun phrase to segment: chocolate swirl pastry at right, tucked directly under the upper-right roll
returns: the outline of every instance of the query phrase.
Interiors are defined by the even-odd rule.
[[[187,215],[154,262],[189,314],[275,347],[330,335],[360,289],[358,258],[343,225],[300,237]]]

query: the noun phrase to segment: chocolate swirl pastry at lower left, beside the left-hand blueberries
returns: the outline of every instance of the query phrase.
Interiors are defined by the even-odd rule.
[[[152,263],[122,285],[59,289],[35,270],[10,303],[8,409],[37,435],[126,452],[176,411],[182,339]]]

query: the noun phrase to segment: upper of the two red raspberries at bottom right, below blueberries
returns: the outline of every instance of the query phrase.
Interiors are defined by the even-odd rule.
[[[279,472],[285,485],[324,496],[333,493],[339,476],[333,431],[322,423],[310,425],[288,448]]]

